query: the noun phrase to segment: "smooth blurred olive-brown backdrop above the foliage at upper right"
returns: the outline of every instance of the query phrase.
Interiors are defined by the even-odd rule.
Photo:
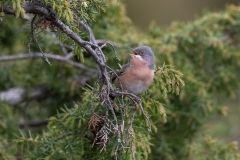
[[[204,10],[219,11],[239,0],[126,0],[127,14],[140,29],[146,30],[152,21],[168,26],[173,21],[189,22]]]

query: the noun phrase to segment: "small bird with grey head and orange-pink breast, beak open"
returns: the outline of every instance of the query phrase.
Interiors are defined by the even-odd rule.
[[[146,91],[154,78],[155,56],[149,46],[132,49],[131,60],[111,77],[122,91],[138,95]]]

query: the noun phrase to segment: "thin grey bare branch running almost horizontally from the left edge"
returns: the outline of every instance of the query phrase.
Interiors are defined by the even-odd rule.
[[[83,70],[87,70],[89,72],[94,72],[97,73],[97,70],[86,67],[85,65],[74,62],[69,58],[69,56],[60,56],[60,55],[54,55],[54,54],[45,54],[45,56],[49,59],[57,60],[57,61],[62,61],[66,62],[72,66],[81,68]],[[19,54],[19,55],[12,55],[12,56],[0,56],[0,62],[4,61],[16,61],[16,60],[24,60],[24,59],[30,59],[30,58],[42,58],[42,53],[31,53],[31,54]]]

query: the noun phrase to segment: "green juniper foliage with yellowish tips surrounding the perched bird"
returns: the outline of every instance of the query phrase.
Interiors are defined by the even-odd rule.
[[[8,2],[3,0],[0,6]],[[11,3],[17,17],[26,16],[22,6],[28,1],[13,0]],[[202,130],[209,116],[217,112],[226,114],[225,108],[218,104],[216,95],[224,93],[234,96],[239,87],[239,6],[205,13],[193,22],[173,23],[167,29],[152,23],[148,33],[144,34],[132,26],[120,1],[45,0],[44,3],[83,39],[87,39],[88,34],[79,27],[79,20],[86,20],[90,24],[96,39],[121,43],[122,48],[116,49],[117,56],[122,60],[118,63],[127,61],[125,53],[129,46],[144,44],[152,47],[157,58],[156,76],[154,84],[140,96],[144,111],[150,116],[152,132],[148,132],[143,112],[140,109],[134,112],[131,99],[120,96],[114,105],[117,119],[121,122],[119,130],[124,129],[119,139],[112,125],[114,118],[104,107],[102,97],[95,92],[100,87],[96,83],[96,75],[54,61],[49,66],[40,59],[1,63],[1,90],[13,86],[31,88],[38,84],[45,84],[51,90],[47,100],[24,102],[18,108],[1,102],[1,158],[239,158],[236,142],[221,144],[211,136],[205,136]],[[3,54],[26,52],[26,44],[31,37],[29,30],[21,31],[27,36],[19,36],[11,24],[25,23],[5,14],[1,14],[4,23],[0,22]],[[96,65],[89,54],[68,35],[41,17],[37,17],[36,21],[39,23],[34,31],[39,33],[37,38],[41,39],[39,45],[44,52],[61,52],[54,36],[45,31],[51,28],[62,43],[74,48],[74,54],[84,65]],[[28,22],[27,28],[29,25]],[[25,44],[22,44],[23,38]],[[12,39],[14,42],[5,43]],[[38,51],[39,48],[33,44],[31,49]],[[103,51],[107,64],[117,69],[112,48],[104,48]],[[90,77],[88,89],[77,87],[76,76],[79,75]],[[28,131],[29,128],[18,131],[18,122],[36,119],[49,119],[44,131]]]

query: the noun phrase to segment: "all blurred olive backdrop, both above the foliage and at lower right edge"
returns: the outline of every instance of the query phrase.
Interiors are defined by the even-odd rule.
[[[220,11],[226,5],[239,5],[239,0],[126,0],[127,14],[137,28],[146,31],[152,22],[167,27],[173,22],[190,22],[207,11]],[[228,116],[216,115],[203,127],[223,142],[240,143],[240,91],[236,97],[219,95],[220,104],[228,107]]]

